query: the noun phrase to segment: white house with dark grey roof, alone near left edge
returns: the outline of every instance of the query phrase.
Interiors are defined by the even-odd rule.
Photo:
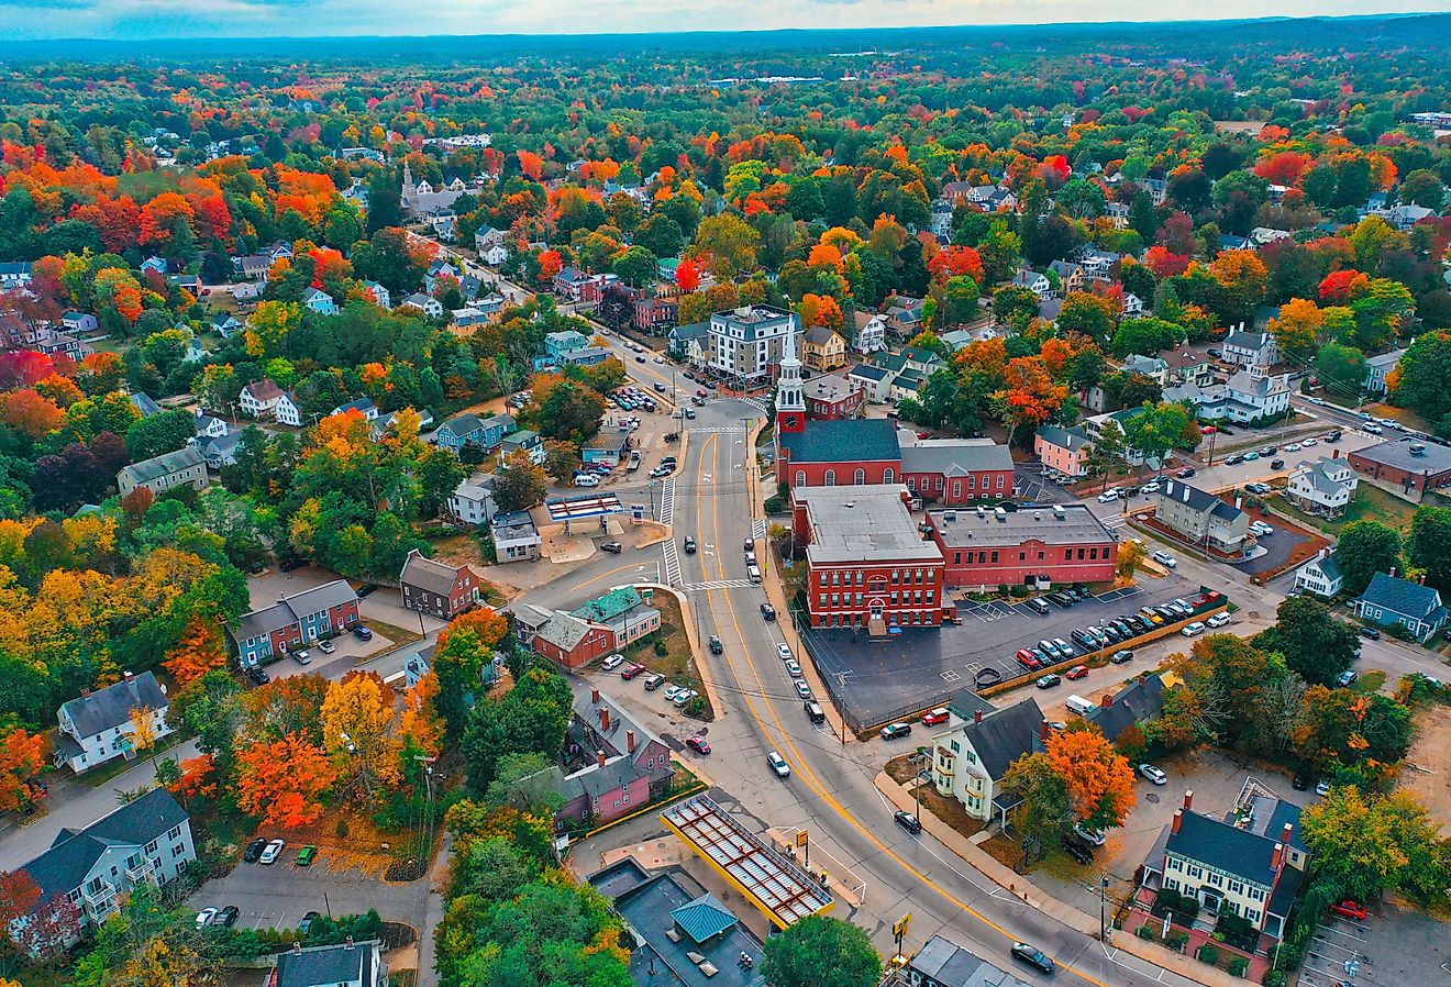
[[[115,758],[131,761],[141,753],[135,743],[138,723],[157,740],[173,733],[167,708],[167,694],[151,672],[125,672],[122,681],[103,689],[81,689],[80,698],[61,704],[55,713],[59,723],[55,763],[80,774]]]

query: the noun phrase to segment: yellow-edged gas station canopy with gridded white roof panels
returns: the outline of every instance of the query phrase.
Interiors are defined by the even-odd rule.
[[[815,878],[760,842],[708,795],[670,806],[660,820],[778,929],[836,904]]]

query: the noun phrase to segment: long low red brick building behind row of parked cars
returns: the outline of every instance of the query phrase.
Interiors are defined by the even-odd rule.
[[[949,586],[1109,582],[1116,575],[1119,543],[1081,504],[930,511],[927,523]]]

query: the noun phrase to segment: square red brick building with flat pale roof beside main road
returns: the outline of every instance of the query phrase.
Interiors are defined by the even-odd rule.
[[[792,538],[807,557],[813,627],[936,627],[943,611],[943,556],[911,520],[901,483],[798,486]]]

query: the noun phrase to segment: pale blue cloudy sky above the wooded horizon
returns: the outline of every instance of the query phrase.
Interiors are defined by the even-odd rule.
[[[1445,0],[0,0],[0,41],[588,35],[1412,13]]]

